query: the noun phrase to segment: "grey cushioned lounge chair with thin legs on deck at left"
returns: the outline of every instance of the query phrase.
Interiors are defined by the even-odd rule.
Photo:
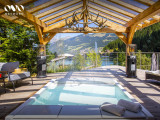
[[[0,63],[0,73],[2,73],[4,88],[5,88],[5,78],[8,78],[10,82],[13,84],[13,90],[15,91],[15,81],[23,80],[25,78],[30,77],[33,85],[33,79],[29,71],[22,73],[13,73],[16,68],[19,68],[19,62],[8,62],[8,63]]]

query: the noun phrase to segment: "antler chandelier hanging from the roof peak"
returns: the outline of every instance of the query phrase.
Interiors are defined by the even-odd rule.
[[[80,31],[80,32],[91,32],[91,31],[97,31],[97,30],[101,30],[105,26],[105,23],[107,22],[107,19],[104,21],[103,18],[99,18],[99,13],[97,14],[96,18],[89,12],[88,10],[88,5],[86,5],[86,8],[83,9],[83,11],[80,13],[80,18],[77,17],[76,12],[73,13],[72,15],[72,20],[68,20],[68,18],[65,19],[66,22],[66,27],[68,29],[71,29],[73,31]],[[86,19],[89,19],[90,21],[84,21],[80,22],[83,17],[86,17]],[[95,19],[94,19],[95,18]],[[89,27],[89,24],[96,24],[98,27]],[[80,26],[83,27],[80,27]]]

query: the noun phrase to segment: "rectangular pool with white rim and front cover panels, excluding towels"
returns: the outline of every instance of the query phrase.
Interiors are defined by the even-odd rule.
[[[123,117],[104,112],[101,104],[116,104],[119,99],[137,102],[113,78],[52,79],[35,95],[6,116],[5,120],[47,119],[128,119],[153,117],[143,106],[142,111],[126,111]]]

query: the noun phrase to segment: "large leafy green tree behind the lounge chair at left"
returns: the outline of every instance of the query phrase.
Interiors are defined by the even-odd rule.
[[[0,19],[0,62],[19,61],[20,67],[36,72],[39,39],[33,28]]]

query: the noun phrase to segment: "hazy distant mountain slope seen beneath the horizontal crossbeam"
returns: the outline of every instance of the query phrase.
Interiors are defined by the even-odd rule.
[[[72,38],[64,38],[56,40],[50,43],[49,50],[51,52],[71,53],[90,51],[95,48],[95,41],[97,42],[98,48],[102,48],[109,42],[117,39],[118,37],[113,33],[94,33],[94,34],[82,34]]]

